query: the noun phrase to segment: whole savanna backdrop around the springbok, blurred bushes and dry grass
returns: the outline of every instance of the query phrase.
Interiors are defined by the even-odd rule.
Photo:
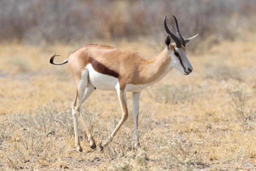
[[[255,170],[256,3],[253,0],[0,1],[0,170]],[[102,43],[155,58],[175,15],[194,70],[173,70],[140,97],[140,149],[129,118],[100,152],[79,126],[74,148],[68,66],[49,58]],[[115,91],[96,90],[83,115],[97,145],[121,118]]]

